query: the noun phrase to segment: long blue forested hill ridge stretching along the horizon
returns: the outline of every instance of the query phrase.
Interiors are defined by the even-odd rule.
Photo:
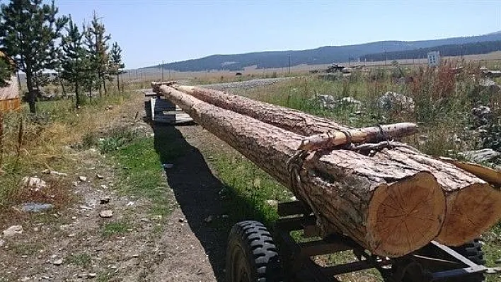
[[[288,66],[289,56],[291,66],[296,66],[298,64],[330,64],[334,62],[342,63],[350,60],[354,61],[367,54],[401,52],[444,45],[466,45],[474,42],[497,40],[501,40],[501,32],[490,33],[488,35],[454,37],[440,40],[379,41],[359,45],[325,46],[302,51],[272,51],[231,55],[212,55],[201,59],[190,59],[187,61],[177,61],[170,64],[164,64],[163,67],[173,71],[207,71],[212,69],[239,71],[247,66],[257,66],[258,69],[282,68]],[[148,68],[151,67],[158,68],[160,66],[149,66]]]

